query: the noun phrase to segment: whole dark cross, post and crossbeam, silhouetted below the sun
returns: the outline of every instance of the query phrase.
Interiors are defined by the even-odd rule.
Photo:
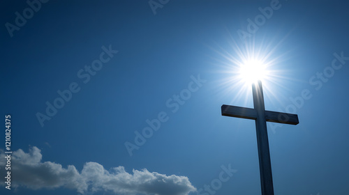
[[[222,116],[248,118],[255,120],[257,132],[258,157],[260,162],[260,185],[262,195],[274,195],[272,164],[270,162],[267,121],[297,125],[297,114],[287,114],[277,111],[266,111],[263,98],[262,81],[252,84],[253,109],[235,107],[223,104]]]

